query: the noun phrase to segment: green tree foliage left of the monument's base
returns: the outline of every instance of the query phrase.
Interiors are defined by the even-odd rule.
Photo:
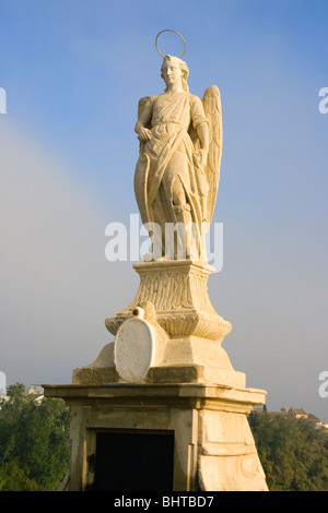
[[[69,463],[69,409],[61,399],[40,403],[21,383],[0,401],[0,491],[51,491]]]

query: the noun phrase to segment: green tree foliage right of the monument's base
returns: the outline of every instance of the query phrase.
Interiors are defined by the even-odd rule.
[[[328,433],[307,419],[255,410],[249,415],[271,491],[328,491]]]

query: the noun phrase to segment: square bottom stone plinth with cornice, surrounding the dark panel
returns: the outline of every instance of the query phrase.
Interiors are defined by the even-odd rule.
[[[172,491],[267,490],[247,421],[265,391],[202,383],[44,389],[71,407],[70,491],[94,488],[97,433],[114,431],[173,434]]]

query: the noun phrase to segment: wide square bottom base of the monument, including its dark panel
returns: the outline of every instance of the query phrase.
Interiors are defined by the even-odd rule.
[[[199,371],[194,368],[195,379]],[[70,491],[268,490],[247,420],[265,403],[261,390],[200,382],[44,387],[46,397],[61,397],[71,407]],[[167,449],[161,456],[164,441],[171,443],[165,436],[172,454]],[[127,456],[129,437],[134,442]],[[152,453],[154,437],[160,442]]]

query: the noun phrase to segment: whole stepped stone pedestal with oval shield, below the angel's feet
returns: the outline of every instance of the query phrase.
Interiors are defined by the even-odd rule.
[[[171,433],[169,490],[267,490],[247,421],[266,392],[246,387],[221,346],[231,324],[209,300],[211,267],[172,261],[134,269],[134,300],[105,321],[115,339],[73,371],[72,384],[44,385],[46,396],[71,407],[70,490],[97,489],[97,433],[114,431]]]

